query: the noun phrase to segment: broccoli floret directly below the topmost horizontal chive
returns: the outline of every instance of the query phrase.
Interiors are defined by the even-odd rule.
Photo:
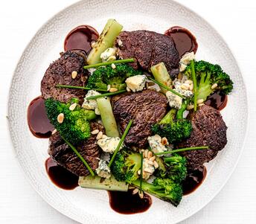
[[[92,73],[86,87],[107,89],[110,85],[118,90],[125,89],[127,86],[125,80],[137,74],[142,74],[142,72],[124,63],[115,64],[115,68],[112,68],[112,65],[102,66]]]

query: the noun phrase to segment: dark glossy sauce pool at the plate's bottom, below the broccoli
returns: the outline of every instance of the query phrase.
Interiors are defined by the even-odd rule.
[[[109,191],[110,207],[120,214],[137,214],[150,208],[152,199],[144,193],[144,198],[141,199],[138,193],[132,194],[132,190],[128,192]]]

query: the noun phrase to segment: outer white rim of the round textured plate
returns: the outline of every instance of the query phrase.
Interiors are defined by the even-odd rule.
[[[22,167],[22,164],[21,164],[21,161],[18,159],[17,157],[17,152],[16,152],[16,149],[13,145],[13,137],[12,137],[12,133],[11,133],[11,130],[10,130],[10,120],[8,118],[10,118],[10,102],[11,102],[11,99],[10,99],[10,95],[11,95],[11,89],[13,87],[13,79],[14,79],[14,75],[16,74],[16,71],[18,69],[18,65],[19,63],[21,63],[22,61],[22,56],[25,54],[25,52],[28,50],[29,46],[31,46],[31,43],[33,42],[34,39],[36,39],[36,36],[38,36],[39,32],[45,28],[50,22],[52,19],[54,19],[55,16],[58,16],[60,15],[61,13],[65,12],[65,10],[67,10],[69,7],[75,7],[77,4],[80,4],[81,2],[83,2],[84,0],[80,0],[80,1],[76,1],[74,2],[73,4],[68,4],[67,6],[63,7],[63,9],[59,10],[57,13],[54,13],[53,16],[51,16],[49,19],[47,19],[44,23],[42,23],[42,25],[40,25],[40,27],[37,29],[36,33],[33,35],[33,37],[30,39],[29,42],[27,42],[27,44],[25,45],[25,48],[24,50],[22,51],[22,54],[21,56],[19,57],[19,60],[17,60],[17,63],[16,63],[16,67],[14,69],[14,71],[12,72],[12,78],[10,80],[10,83],[9,83],[9,91],[8,91],[8,94],[7,94],[7,129],[8,129],[8,141],[9,143],[11,144],[11,148],[12,148],[12,151],[13,151],[13,154],[15,156],[15,160],[17,161],[17,163],[19,164],[19,167],[21,168],[22,170],[22,173],[24,174],[25,176],[25,179],[28,181],[28,183],[31,185],[31,187],[33,188],[34,191],[36,191],[36,193],[39,194],[39,196],[42,197],[42,199],[48,203],[48,205],[51,205],[52,208],[54,208],[56,211],[60,212],[60,214],[63,214],[65,217],[68,217],[70,218],[71,220],[75,220],[79,223],[83,223],[83,220],[80,220],[79,217],[76,217],[74,214],[71,214],[70,212],[68,212],[67,210],[63,210],[63,208],[57,208],[57,206],[53,205],[53,203],[47,198],[47,197],[44,197],[42,195],[42,193],[39,191],[38,188],[36,188],[35,185],[33,185],[33,182],[31,181],[31,179],[28,177],[28,175],[25,173],[25,169],[24,167]],[[231,168],[231,170],[228,172],[228,176],[227,178],[225,179],[225,181],[223,181],[222,185],[220,185],[220,187],[217,189],[217,191],[215,191],[211,197],[208,198],[207,201],[205,201],[204,203],[202,203],[202,205],[200,205],[198,208],[196,208],[196,211],[193,211],[191,212],[191,214],[189,214],[187,217],[182,217],[180,218],[179,220],[176,221],[176,223],[180,223],[184,220],[187,220],[189,217],[192,217],[194,214],[198,213],[199,211],[202,210],[202,208],[205,208],[206,205],[208,205],[219,193],[220,191],[223,190],[224,186],[226,185],[226,183],[228,182],[228,180],[231,178],[232,174],[234,173],[234,170],[236,169],[237,167],[237,164],[238,162],[240,161],[240,158],[243,154],[243,150],[245,149],[245,144],[246,144],[246,140],[248,138],[248,129],[249,129],[249,117],[250,117],[250,114],[249,114],[249,111],[250,111],[250,106],[249,106],[249,99],[248,99],[248,89],[246,88],[246,83],[244,81],[244,77],[243,77],[243,72],[241,70],[241,67],[240,67],[240,63],[237,61],[237,58],[235,57],[235,54],[234,54],[234,51],[232,50],[232,48],[229,47],[228,43],[225,41],[225,39],[223,38],[223,36],[217,31],[216,28],[214,28],[213,25],[211,25],[211,22],[208,22],[203,16],[201,16],[199,13],[196,13],[194,10],[191,10],[191,8],[187,7],[186,5],[176,1],[176,0],[165,0],[165,1],[173,1],[175,4],[178,4],[180,7],[183,7],[185,8],[185,10],[188,10],[190,11],[191,13],[195,14],[196,16],[198,16],[200,19],[202,19],[207,25],[209,25],[209,27],[211,27],[211,29],[217,33],[217,36],[223,41],[223,43],[225,44],[225,48],[228,48],[228,50],[231,52],[231,57],[234,58],[234,61],[235,63],[237,63],[237,69],[238,71],[240,72],[241,74],[241,81],[243,83],[243,86],[244,86],[244,92],[245,92],[245,103],[246,103],[246,122],[245,122],[245,133],[244,133],[244,138],[243,138],[243,143],[241,144],[241,148],[240,148],[240,151],[239,151],[239,154],[237,155],[237,158],[236,158],[236,161],[233,165],[233,167]],[[179,209],[179,208],[178,208]],[[87,214],[86,214],[87,215]],[[92,215],[92,214],[88,214],[88,215]]]

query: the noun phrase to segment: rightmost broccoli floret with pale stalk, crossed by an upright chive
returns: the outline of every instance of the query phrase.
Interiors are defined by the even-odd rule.
[[[213,65],[203,60],[194,62],[194,68],[196,72],[197,82],[197,99],[206,100],[206,98],[213,92],[221,92],[228,95],[233,89],[233,82],[229,75],[226,74],[220,65]],[[184,74],[191,77],[191,64],[187,66]],[[211,86],[217,83],[215,89],[211,89]]]

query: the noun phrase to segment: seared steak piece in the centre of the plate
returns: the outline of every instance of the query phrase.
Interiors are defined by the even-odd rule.
[[[138,148],[147,147],[147,137],[152,134],[151,126],[166,114],[167,98],[159,92],[144,90],[113,97],[112,104],[121,132],[133,119],[125,143]]]

